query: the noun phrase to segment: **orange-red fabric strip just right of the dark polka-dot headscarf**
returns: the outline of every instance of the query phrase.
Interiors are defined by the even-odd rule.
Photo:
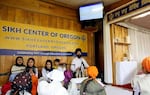
[[[35,75],[32,75],[32,95],[36,95],[37,93],[37,86],[38,86],[38,78]]]

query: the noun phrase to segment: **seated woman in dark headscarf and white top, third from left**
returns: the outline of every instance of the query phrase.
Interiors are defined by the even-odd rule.
[[[53,70],[53,65],[51,60],[46,60],[45,67],[42,68],[42,77],[48,80],[47,74]]]

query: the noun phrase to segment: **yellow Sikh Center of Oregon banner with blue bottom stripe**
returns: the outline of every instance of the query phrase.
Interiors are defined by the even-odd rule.
[[[0,55],[72,56],[76,48],[87,55],[87,34],[0,20]]]

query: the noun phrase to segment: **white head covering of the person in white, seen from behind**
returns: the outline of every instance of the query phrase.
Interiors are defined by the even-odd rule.
[[[47,77],[53,81],[63,81],[65,78],[64,73],[62,71],[57,70],[57,69],[49,72],[47,74]]]

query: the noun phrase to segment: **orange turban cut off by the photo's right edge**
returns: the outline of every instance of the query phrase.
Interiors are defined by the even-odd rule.
[[[150,72],[150,57],[144,58],[142,61],[142,67],[146,72]]]

